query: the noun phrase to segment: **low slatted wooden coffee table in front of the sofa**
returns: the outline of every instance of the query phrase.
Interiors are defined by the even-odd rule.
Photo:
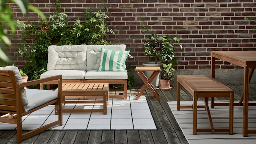
[[[58,90],[58,89],[56,89]],[[108,104],[108,83],[68,83],[62,86],[63,103],[103,103],[102,109],[63,109],[63,112],[103,112],[107,114]],[[91,96],[100,96],[103,100],[66,100],[65,96],[76,97],[86,95],[87,98]],[[55,108],[55,111],[58,109]]]

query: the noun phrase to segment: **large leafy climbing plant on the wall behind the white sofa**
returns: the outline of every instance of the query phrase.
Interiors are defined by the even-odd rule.
[[[102,9],[89,9],[83,12],[75,23],[68,25],[67,14],[61,12],[60,2],[55,3],[56,10],[49,20],[25,24],[17,21],[17,27],[23,33],[18,53],[23,56],[23,71],[30,80],[40,78],[47,70],[48,46],[78,44],[108,44],[107,33],[114,32],[108,28],[106,12]]]

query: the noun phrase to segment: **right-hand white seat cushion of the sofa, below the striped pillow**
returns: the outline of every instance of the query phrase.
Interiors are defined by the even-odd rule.
[[[96,70],[87,71],[84,79],[128,79],[126,72],[96,72]]]

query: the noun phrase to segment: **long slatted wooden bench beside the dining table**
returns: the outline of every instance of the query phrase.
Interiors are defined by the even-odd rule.
[[[184,87],[193,96],[193,105],[180,106],[180,85]],[[229,112],[229,128],[214,128],[212,118],[209,111],[208,98],[213,97],[229,97],[230,112]],[[198,98],[204,98],[205,106],[198,106]],[[216,81],[207,75],[177,75],[177,110],[181,108],[193,108],[193,135],[197,132],[229,132],[233,134],[233,103],[234,91],[229,87]],[[211,128],[197,128],[197,108],[205,108],[207,111],[209,124]]]

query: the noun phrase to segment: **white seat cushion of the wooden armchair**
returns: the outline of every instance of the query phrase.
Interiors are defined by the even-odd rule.
[[[24,107],[26,112],[58,98],[58,91],[54,90],[26,89],[26,94],[29,101]]]

